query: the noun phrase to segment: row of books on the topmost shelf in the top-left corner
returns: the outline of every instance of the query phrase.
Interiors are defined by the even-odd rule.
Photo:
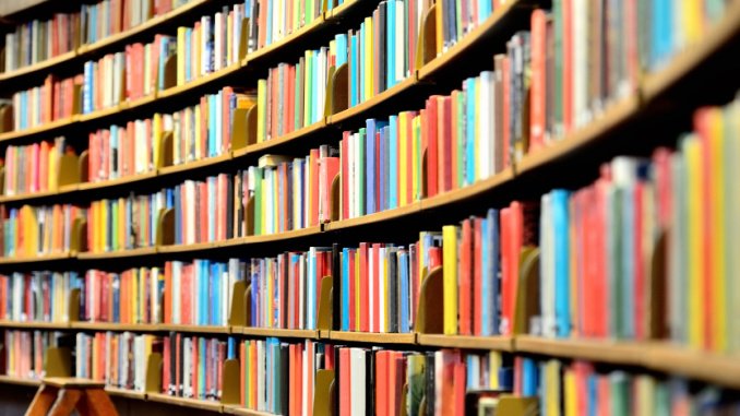
[[[188,0],[104,0],[81,4],[79,12],[58,12],[15,26],[4,36],[4,72],[44,62],[82,45],[128,31]]]

